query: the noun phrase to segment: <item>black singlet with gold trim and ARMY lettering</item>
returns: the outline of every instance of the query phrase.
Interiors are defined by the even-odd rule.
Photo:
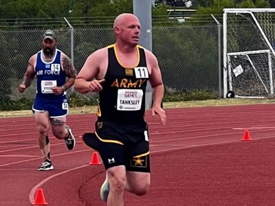
[[[137,45],[138,61],[134,67],[123,67],[115,51],[108,47],[108,68],[100,91],[98,119],[133,123],[144,121],[146,84],[150,74],[144,49]]]

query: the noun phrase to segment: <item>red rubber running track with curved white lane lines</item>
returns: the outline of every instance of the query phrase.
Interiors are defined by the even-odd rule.
[[[275,105],[166,109],[167,124],[146,115],[151,141],[151,190],[125,194],[125,205],[275,205]],[[69,115],[76,148],[50,135],[54,170],[36,171],[41,152],[33,117],[0,119],[0,205],[32,205],[43,188],[50,206],[105,205],[103,165],[80,136],[94,114]],[[244,130],[252,141],[241,141]]]

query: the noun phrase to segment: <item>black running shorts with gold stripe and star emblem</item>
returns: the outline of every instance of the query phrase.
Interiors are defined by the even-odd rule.
[[[125,165],[127,171],[150,172],[147,124],[96,122],[96,132],[83,135],[87,146],[100,154],[107,170]]]

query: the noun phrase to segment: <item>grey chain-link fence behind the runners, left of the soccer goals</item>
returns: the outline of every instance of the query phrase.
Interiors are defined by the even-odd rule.
[[[0,31],[0,98],[33,99],[36,80],[22,95],[17,88],[22,82],[28,59],[41,49],[46,29]],[[110,27],[74,28],[72,42],[69,28],[53,29],[58,49],[74,59],[80,71],[86,58],[101,47],[115,42]],[[219,38],[217,25],[171,25],[152,28],[153,53],[159,60],[164,85],[168,91],[210,90],[219,93]],[[71,54],[72,51],[74,54]],[[70,89],[69,94],[74,93]]]

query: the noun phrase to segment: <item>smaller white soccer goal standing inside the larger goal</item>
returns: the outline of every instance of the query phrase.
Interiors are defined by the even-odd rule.
[[[271,56],[270,50],[228,53],[229,91],[240,98],[273,95]]]

